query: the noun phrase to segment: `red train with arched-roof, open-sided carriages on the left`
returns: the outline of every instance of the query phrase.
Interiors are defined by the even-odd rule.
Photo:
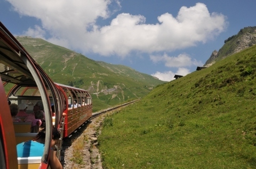
[[[92,116],[90,93],[83,89],[54,83],[1,22],[0,76],[0,97],[3,105],[0,110],[0,166],[38,168],[41,165],[41,168],[47,168],[52,140],[51,129],[53,127],[59,129],[63,138],[89,120]],[[5,93],[5,91],[9,92]],[[17,105],[26,104],[26,113],[33,113],[36,104],[44,111],[47,134],[42,157],[18,157],[18,160],[15,160],[16,144],[31,140],[36,133],[30,133],[31,122],[12,122],[7,100]],[[58,156],[62,138],[57,147]]]

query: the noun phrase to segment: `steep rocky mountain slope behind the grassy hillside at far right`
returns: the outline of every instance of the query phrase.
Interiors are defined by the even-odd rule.
[[[246,27],[241,29],[237,35],[231,36],[225,40],[225,44],[217,50],[214,50],[204,66],[209,66],[216,61],[240,52],[241,50],[256,44],[256,27]]]

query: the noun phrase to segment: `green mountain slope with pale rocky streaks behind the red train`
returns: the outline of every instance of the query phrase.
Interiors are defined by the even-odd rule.
[[[89,90],[93,111],[141,98],[164,83],[130,67],[97,62],[40,38],[16,38],[53,81]]]

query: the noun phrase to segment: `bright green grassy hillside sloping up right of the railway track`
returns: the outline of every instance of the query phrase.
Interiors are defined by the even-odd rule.
[[[255,168],[256,46],[107,117],[106,168]]]

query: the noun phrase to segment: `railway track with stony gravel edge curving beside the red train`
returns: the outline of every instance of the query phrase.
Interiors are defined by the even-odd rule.
[[[69,168],[86,168],[86,169],[102,168],[100,153],[97,148],[98,142],[97,142],[96,128],[100,127],[103,121],[103,118],[100,118],[100,120],[97,120],[96,118],[108,112],[116,111],[119,108],[125,107],[134,102],[137,102],[138,100],[139,99],[93,113],[89,121],[82,124],[78,128],[78,130],[76,130],[74,133],[71,133],[70,137],[63,139],[62,151],[61,151],[61,163],[64,166],[64,168],[67,168],[67,169]],[[83,150],[81,150],[83,151],[82,154],[84,156],[83,157],[84,163],[81,166],[76,164],[74,160],[71,160],[71,158],[73,157],[74,146],[76,144],[76,141],[80,140],[79,138],[85,138],[85,137],[88,138],[89,141],[84,143]]]

